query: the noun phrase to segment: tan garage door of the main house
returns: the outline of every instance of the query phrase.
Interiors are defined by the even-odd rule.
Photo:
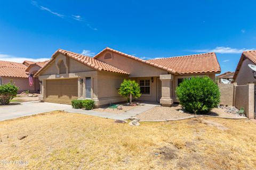
[[[46,102],[71,104],[77,94],[77,78],[46,80]]]

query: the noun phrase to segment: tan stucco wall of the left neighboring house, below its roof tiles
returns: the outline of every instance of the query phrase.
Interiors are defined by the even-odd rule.
[[[7,84],[13,81],[15,86],[19,87],[18,93],[29,90],[31,93],[35,93],[35,83],[33,86],[29,86],[28,78],[18,78],[18,77],[2,77],[2,84]]]

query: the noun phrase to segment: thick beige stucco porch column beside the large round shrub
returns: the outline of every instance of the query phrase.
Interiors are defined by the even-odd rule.
[[[171,107],[173,103],[172,99],[172,80],[173,75],[160,75],[160,80],[162,82],[162,98],[160,103],[162,106]]]

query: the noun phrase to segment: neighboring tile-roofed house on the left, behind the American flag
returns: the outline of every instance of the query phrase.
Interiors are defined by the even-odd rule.
[[[29,75],[41,69],[47,61],[33,62],[24,61],[23,63],[0,61],[0,85],[13,82],[19,87],[18,93],[29,90],[30,93],[40,93],[40,85],[38,78],[33,77],[34,84],[29,86]]]

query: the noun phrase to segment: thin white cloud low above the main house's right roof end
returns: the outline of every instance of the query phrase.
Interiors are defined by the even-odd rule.
[[[230,47],[216,47],[213,49],[201,49],[201,50],[191,50],[193,52],[215,52],[215,53],[221,53],[221,54],[238,54],[242,53],[244,51],[254,50],[253,48],[247,49],[247,48],[230,48]]]

